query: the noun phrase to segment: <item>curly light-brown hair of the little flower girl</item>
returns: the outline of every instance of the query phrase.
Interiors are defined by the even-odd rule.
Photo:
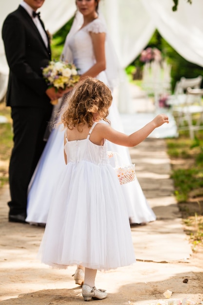
[[[92,114],[98,113],[98,119],[110,123],[106,117],[111,102],[111,90],[102,81],[86,77],[75,85],[74,92],[67,101],[68,106],[61,115],[61,122],[65,128],[73,129],[77,126],[78,131],[82,131],[85,124],[92,127]]]

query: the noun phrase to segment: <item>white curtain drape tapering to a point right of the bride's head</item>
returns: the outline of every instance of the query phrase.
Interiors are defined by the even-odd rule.
[[[142,0],[101,0],[100,7],[123,68],[148,44],[155,31]]]

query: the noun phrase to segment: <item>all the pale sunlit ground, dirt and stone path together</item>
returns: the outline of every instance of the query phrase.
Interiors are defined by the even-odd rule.
[[[136,264],[98,272],[96,286],[107,289],[108,298],[92,302],[105,305],[169,305],[163,295],[169,289],[172,291],[169,300],[183,301],[186,298],[190,302],[185,305],[192,305],[193,302],[203,304],[203,248],[197,246],[198,251],[192,252],[187,247],[188,237],[171,196],[172,183],[166,174],[169,167],[164,151],[163,140],[144,141],[135,152],[131,151],[139,164],[138,179],[157,220],[131,227]],[[157,160],[160,158],[162,174],[159,173],[160,177],[156,180]],[[153,174],[154,164],[156,174]],[[8,222],[8,197],[8,186],[5,186],[0,191],[0,305],[84,304],[81,287],[74,284],[72,277],[75,267],[51,269],[37,259],[44,228]],[[183,257],[179,255],[182,252],[186,253]]]

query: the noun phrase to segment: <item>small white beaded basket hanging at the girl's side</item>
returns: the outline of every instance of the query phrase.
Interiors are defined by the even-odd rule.
[[[126,184],[135,180],[135,164],[128,164],[125,166],[118,165],[117,152],[113,152],[115,156],[115,172],[117,173],[120,184]],[[120,155],[119,155],[120,156]]]

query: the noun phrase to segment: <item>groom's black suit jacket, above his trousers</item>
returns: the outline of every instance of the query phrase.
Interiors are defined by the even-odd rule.
[[[48,107],[50,99],[45,94],[47,84],[41,68],[51,59],[50,44],[46,48],[35,23],[22,6],[4,20],[2,38],[10,68],[7,106]]]

